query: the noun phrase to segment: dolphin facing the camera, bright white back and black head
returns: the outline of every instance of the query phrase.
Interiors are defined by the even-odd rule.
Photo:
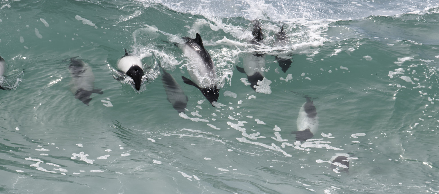
[[[117,67],[119,67],[120,70],[119,74],[128,75],[131,79],[133,79],[134,87],[136,90],[140,90],[140,84],[142,83],[142,76],[145,74],[143,71],[143,65],[140,60],[128,53],[125,49],[125,55],[123,55],[118,61],[117,61]]]

